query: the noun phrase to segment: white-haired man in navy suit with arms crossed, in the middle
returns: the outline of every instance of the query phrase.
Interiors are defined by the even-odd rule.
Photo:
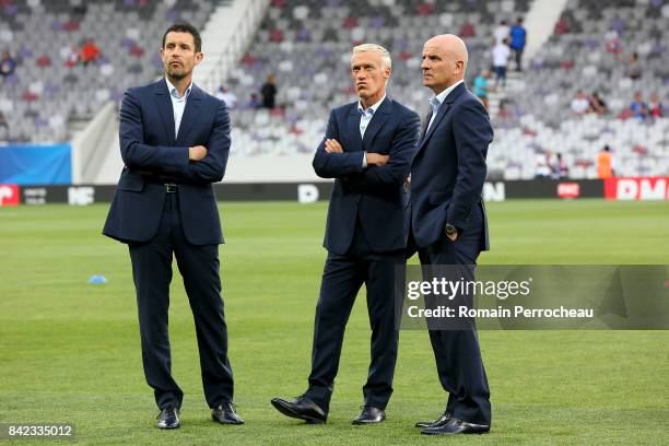
[[[363,387],[365,403],[353,424],[384,421],[392,394],[399,340],[394,280],[396,268],[406,263],[403,184],[420,119],[386,96],[390,63],[383,47],[353,48],[351,74],[360,99],[331,111],[314,156],[316,174],[336,180],[324,242],[328,257],[316,306],[309,386],[294,401],[272,400],[283,414],[308,423],[327,420],[344,328],[363,283],[372,362]]]

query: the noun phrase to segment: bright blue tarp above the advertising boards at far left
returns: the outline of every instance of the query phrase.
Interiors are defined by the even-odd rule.
[[[0,184],[69,185],[70,144],[0,145]]]

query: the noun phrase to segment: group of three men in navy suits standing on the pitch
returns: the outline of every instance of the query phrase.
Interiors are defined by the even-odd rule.
[[[120,148],[126,167],[103,232],[129,247],[144,374],[161,409],[157,426],[179,426],[183,400],[172,377],[167,334],[173,255],[196,321],[212,418],[242,424],[232,404],[218,257],[223,236],[212,187],[225,172],[230,117],[224,103],[192,83],[192,70],[203,57],[195,27],[171,26],[161,55],[165,78],[130,89],[124,97]],[[345,325],[365,284],[372,360],[365,403],[353,424],[383,422],[399,340],[396,274],[406,265],[407,245],[409,255],[418,250],[422,265],[463,266],[473,277],[477,258],[489,246],[481,192],[493,131],[485,108],[463,84],[467,58],[457,36],[425,43],[423,84],[434,96],[421,133],[418,115],[386,95],[388,51],[371,44],[353,48],[351,75],[359,101],[331,111],[313,162],[317,175],[336,181],[312,373],[301,397],[272,400],[281,413],[307,423],[327,420]],[[404,184],[409,174],[410,199]],[[488,432],[490,390],[476,327],[432,329],[430,339],[449,398],[441,418],[416,426],[424,427],[423,434]]]

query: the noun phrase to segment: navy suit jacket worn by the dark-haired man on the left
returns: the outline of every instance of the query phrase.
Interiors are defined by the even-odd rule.
[[[179,214],[188,242],[223,243],[213,183],[225,173],[230,152],[230,116],[225,103],[192,85],[179,133],[167,84],[129,89],[120,109],[120,152],[126,166],[103,234],[121,242],[148,242],[155,235],[165,183],[178,184]],[[204,145],[207,156],[188,161],[188,148]]]

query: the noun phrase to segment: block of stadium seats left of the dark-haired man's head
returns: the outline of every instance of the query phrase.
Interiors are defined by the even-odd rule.
[[[90,119],[127,87],[161,74],[160,38],[172,22],[201,26],[212,9],[203,0],[3,0],[0,48],[19,64],[0,80],[0,110],[8,119],[0,141],[70,139],[69,121]],[[70,54],[89,38],[102,56],[67,67]]]

